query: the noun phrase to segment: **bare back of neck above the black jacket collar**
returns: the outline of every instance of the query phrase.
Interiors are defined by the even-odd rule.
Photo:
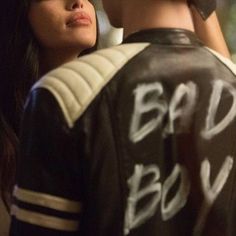
[[[150,28],[182,28],[194,31],[191,13],[184,0],[125,1],[122,20],[124,37]]]

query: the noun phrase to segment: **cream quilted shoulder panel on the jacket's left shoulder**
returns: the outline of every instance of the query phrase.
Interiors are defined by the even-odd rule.
[[[99,50],[49,72],[32,89],[48,89],[58,101],[69,127],[73,127],[113,75],[148,45],[124,44]]]

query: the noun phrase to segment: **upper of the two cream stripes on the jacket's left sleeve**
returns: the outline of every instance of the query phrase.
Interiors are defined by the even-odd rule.
[[[55,197],[45,193],[22,189],[18,186],[15,186],[13,196],[15,196],[16,199],[22,202],[47,207],[53,210],[69,213],[81,212],[81,204],[79,202],[64,199],[61,197]]]

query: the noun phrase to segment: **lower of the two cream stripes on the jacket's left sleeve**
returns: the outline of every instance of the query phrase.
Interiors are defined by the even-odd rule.
[[[25,223],[54,230],[75,232],[79,228],[78,221],[65,220],[54,216],[23,210],[15,205],[12,205],[11,207],[11,215],[14,215],[16,219]]]

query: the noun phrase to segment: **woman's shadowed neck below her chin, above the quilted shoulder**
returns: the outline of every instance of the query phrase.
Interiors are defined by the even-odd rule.
[[[39,54],[39,74],[40,77],[61,66],[64,63],[72,61],[79,56],[80,52],[70,51],[69,49],[46,49],[41,50]]]

